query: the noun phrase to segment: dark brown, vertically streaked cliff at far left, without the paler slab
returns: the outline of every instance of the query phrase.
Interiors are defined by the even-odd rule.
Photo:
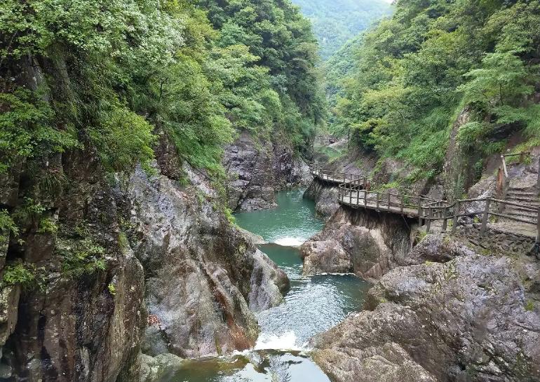
[[[144,276],[133,251],[119,240],[123,198],[104,181],[91,156],[65,155],[69,158],[64,165],[54,159],[50,163],[71,187],[51,198],[44,212],[55,219],[58,232],[28,226],[20,231],[22,245],[12,238],[8,246],[8,264],[18,258],[36,266],[36,283],[2,285],[0,378],[133,381],[145,320]],[[16,184],[13,192],[20,198],[28,189]],[[72,240],[76,222],[84,236],[102,248],[106,269],[79,268],[75,275],[60,265],[57,243]]]

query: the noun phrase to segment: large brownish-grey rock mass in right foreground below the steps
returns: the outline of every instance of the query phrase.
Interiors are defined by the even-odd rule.
[[[369,310],[316,338],[323,370],[338,382],[539,381],[537,261],[433,236],[409,259],[372,287]]]

